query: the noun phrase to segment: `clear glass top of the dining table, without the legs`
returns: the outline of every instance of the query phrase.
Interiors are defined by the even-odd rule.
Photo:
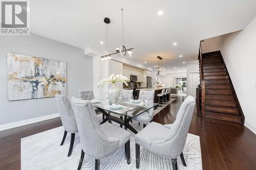
[[[92,101],[94,107],[98,110],[104,110],[106,112],[111,112],[114,114],[118,114],[120,116],[128,116],[135,117],[139,114],[154,110],[154,107],[158,106],[157,103],[151,103],[147,101],[139,101],[139,100],[118,100],[116,104],[110,105],[108,101]],[[153,111],[151,110],[151,111]]]

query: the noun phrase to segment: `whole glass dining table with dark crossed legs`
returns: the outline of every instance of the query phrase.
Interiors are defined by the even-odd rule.
[[[133,133],[137,134],[138,131],[134,129],[129,123],[134,117],[150,109],[156,108],[158,104],[148,103],[146,101],[142,101],[139,104],[134,104],[132,103],[132,100],[119,100],[115,105],[116,107],[119,107],[118,109],[113,108],[109,102],[100,102],[93,104],[93,106],[102,113],[102,122],[100,124],[104,124],[105,122],[112,123],[113,121],[120,124],[121,128],[124,126],[125,130],[129,129]]]

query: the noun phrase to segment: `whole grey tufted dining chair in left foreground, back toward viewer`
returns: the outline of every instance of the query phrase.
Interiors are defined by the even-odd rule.
[[[127,163],[130,164],[131,133],[108,122],[100,125],[90,101],[73,97],[72,104],[82,148],[78,169],[81,169],[84,153],[95,159],[95,169],[99,169],[99,160],[123,145]]]

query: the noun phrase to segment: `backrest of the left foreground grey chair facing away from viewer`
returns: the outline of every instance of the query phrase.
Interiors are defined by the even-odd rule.
[[[72,97],[77,127],[82,150],[87,155],[99,159],[115,151],[119,147],[119,140],[108,137],[100,127],[93,105],[88,100]],[[114,147],[110,147],[114,145]]]

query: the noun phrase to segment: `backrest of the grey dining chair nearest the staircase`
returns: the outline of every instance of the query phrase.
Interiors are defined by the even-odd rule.
[[[169,133],[163,136],[163,142],[152,145],[152,150],[163,155],[177,158],[184,149],[188,129],[195,108],[193,96],[187,96],[181,104],[176,120]],[[169,148],[166,150],[166,148]],[[170,152],[171,151],[171,152]]]

